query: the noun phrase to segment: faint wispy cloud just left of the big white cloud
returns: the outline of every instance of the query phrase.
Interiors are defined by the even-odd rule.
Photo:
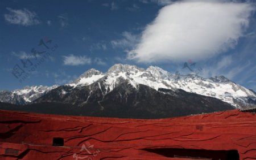
[[[111,44],[113,48],[131,48],[138,42],[138,36],[131,34],[130,32],[123,32],[122,37],[119,40],[112,40]]]

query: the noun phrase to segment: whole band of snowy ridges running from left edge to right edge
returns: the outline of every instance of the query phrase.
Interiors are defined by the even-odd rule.
[[[206,79],[195,74],[172,74],[156,66],[150,66],[145,70],[128,64],[114,64],[106,73],[90,69],[82,73],[72,83],[65,84],[65,86],[71,88],[69,90],[61,90],[60,94],[67,94],[73,88],[80,89],[85,86],[97,85],[102,95],[105,96],[125,81],[135,89],[139,89],[139,84],[146,85],[155,90],[159,90],[160,88],[174,91],[183,89],[186,92],[218,98],[233,105],[237,109],[256,107],[256,94],[253,90],[246,89],[224,76]],[[25,87],[12,92],[0,91],[0,101],[24,105],[42,97],[57,87],[57,85],[53,85],[52,87],[40,85]],[[92,92],[91,90],[90,93]],[[164,93],[163,90],[160,92]]]

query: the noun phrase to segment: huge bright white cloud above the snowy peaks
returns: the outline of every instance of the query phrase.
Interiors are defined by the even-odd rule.
[[[163,7],[127,58],[154,63],[201,60],[233,48],[249,25],[249,3],[182,1]]]

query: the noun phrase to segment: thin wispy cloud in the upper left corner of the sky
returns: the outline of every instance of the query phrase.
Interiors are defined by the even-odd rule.
[[[9,14],[5,14],[5,20],[11,24],[18,24],[23,26],[39,24],[40,21],[37,18],[35,12],[29,11],[26,8],[23,10],[13,10],[7,8]]]

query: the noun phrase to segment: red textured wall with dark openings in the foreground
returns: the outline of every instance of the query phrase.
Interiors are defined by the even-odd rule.
[[[239,110],[155,120],[0,111],[0,159],[238,156],[256,159],[256,116]]]

